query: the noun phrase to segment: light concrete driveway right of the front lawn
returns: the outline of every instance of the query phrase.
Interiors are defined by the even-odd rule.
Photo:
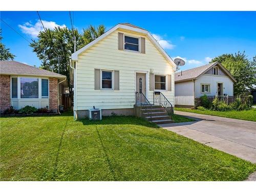
[[[220,151],[256,163],[256,122],[176,111],[197,121],[162,124],[173,131]]]

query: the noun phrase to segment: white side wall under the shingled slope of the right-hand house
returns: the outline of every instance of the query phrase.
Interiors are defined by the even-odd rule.
[[[194,105],[194,82],[175,83],[175,104]]]

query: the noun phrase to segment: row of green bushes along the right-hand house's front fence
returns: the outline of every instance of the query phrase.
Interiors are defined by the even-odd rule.
[[[209,102],[209,99],[206,95],[203,95],[201,98],[201,105],[197,109],[203,110],[212,110],[212,111],[242,111],[250,110],[252,106],[253,98],[251,95],[247,96],[242,102],[241,98],[237,97],[234,102],[227,104],[226,102],[215,98],[212,102]]]

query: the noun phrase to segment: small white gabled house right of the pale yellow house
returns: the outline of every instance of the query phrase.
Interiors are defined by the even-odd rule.
[[[233,96],[236,79],[221,65],[208,65],[175,73],[175,106],[192,107],[202,95]]]

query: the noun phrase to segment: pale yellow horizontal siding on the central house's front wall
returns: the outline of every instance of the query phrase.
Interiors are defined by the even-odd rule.
[[[153,100],[149,91],[149,74],[172,75],[172,91],[162,93],[174,104],[174,71],[152,42],[145,37],[145,54],[118,50],[118,32],[111,33],[96,45],[78,56],[76,66],[77,110],[88,110],[92,106],[100,109],[133,108],[135,104],[135,73],[146,72],[147,97]],[[126,35],[141,35],[121,31]],[[120,90],[94,90],[94,69],[119,70]],[[168,81],[168,80],[167,80]]]

